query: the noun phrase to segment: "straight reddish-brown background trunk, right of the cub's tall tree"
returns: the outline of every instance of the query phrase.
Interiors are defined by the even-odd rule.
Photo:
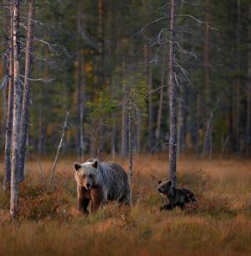
[[[211,100],[211,85],[210,85],[210,0],[206,0],[206,27],[205,27],[205,41],[204,41],[204,69],[205,69],[205,83],[206,83],[206,120],[205,120],[205,138],[203,144],[202,154],[209,154],[211,149],[210,133],[207,133],[207,123],[210,119],[210,100]]]

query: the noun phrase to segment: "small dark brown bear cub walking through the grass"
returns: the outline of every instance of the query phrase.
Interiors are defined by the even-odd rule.
[[[158,182],[158,191],[162,196],[165,196],[168,203],[161,206],[162,210],[172,210],[174,207],[179,206],[183,210],[188,202],[197,201],[193,192],[187,189],[178,189],[173,186],[172,180]]]

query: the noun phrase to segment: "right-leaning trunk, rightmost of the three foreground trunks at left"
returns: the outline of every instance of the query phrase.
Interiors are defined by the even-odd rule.
[[[21,115],[21,138],[20,138],[20,176],[19,180],[24,180],[24,163],[26,159],[26,143],[28,137],[29,123],[29,102],[30,102],[30,81],[32,65],[32,39],[33,39],[33,16],[34,16],[34,0],[29,3],[28,10],[28,30],[25,53],[25,77],[23,86],[23,104]]]

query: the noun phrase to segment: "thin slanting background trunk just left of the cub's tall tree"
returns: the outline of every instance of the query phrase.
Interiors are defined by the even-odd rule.
[[[159,139],[161,135],[161,118],[162,118],[164,81],[165,81],[165,70],[166,70],[165,51],[166,49],[163,50],[162,65],[161,65],[161,91],[160,91],[160,100],[159,100],[159,109],[158,109],[157,127],[156,127],[156,144],[159,144]]]

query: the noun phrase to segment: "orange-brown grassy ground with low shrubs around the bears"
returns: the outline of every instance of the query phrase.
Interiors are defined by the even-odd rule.
[[[184,212],[160,212],[156,186],[166,180],[166,159],[136,157],[131,209],[110,203],[89,217],[77,211],[75,159],[61,156],[53,189],[40,180],[38,162],[28,160],[16,220],[10,221],[8,195],[0,192],[0,256],[250,255],[251,160],[182,157],[178,186],[192,189],[198,202]],[[127,170],[126,161],[115,161]],[[52,164],[41,161],[44,180]]]

